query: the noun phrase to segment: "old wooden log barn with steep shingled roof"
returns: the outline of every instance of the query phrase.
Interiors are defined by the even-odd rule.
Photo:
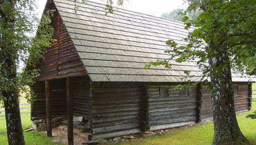
[[[165,41],[179,45],[188,35],[180,21],[105,6],[91,1],[48,0],[55,10],[51,48],[37,66],[41,70],[32,88],[37,98],[31,109],[33,121],[67,117],[72,140],[73,115],[89,121],[89,139],[156,131],[195,124],[212,117],[210,90],[199,83],[181,91],[184,70],[199,80],[196,60],[173,64],[172,69],[143,69],[149,61],[168,59]],[[253,77],[232,74],[237,112],[251,108]]]

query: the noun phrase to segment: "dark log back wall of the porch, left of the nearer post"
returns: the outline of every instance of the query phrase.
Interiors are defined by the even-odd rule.
[[[51,117],[66,116],[66,79],[49,81],[51,86]],[[31,119],[46,119],[46,93],[44,81],[37,81],[32,88],[35,91],[35,101],[31,108]]]

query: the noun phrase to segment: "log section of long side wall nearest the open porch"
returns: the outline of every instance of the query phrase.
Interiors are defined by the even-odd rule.
[[[145,88],[140,84],[92,84],[91,135],[110,138],[145,129]]]

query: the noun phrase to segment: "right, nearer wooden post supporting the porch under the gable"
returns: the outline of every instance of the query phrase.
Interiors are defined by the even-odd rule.
[[[73,99],[71,96],[71,82],[69,77],[66,78],[66,104],[68,116],[68,145],[73,145]]]

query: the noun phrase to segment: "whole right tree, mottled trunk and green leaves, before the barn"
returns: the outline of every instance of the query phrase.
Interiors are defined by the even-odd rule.
[[[203,70],[201,81],[208,82],[205,78],[210,77],[214,120],[212,144],[250,144],[237,124],[231,72],[255,75],[255,1],[187,1],[190,4],[188,10],[201,8],[202,13],[194,21],[188,16],[183,19],[186,29],[195,26],[184,39],[188,44],[179,46],[175,41],[168,40],[166,43],[172,49],[166,52],[180,63],[188,59],[198,60],[197,64]],[[164,60],[151,62],[147,67],[152,64],[172,66]]]

